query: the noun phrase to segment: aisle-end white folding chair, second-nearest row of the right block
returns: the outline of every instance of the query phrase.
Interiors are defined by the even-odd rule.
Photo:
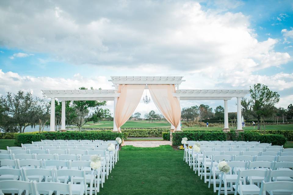
[[[252,177],[262,177],[265,178],[268,175],[269,170],[260,170],[260,169],[250,169],[250,170],[239,170],[238,177],[235,185],[233,185],[233,189],[235,189],[234,195],[257,195],[260,192],[259,186],[255,185],[252,182]],[[249,178],[249,184],[246,184],[245,179],[241,178]],[[262,195],[262,194],[261,194]]]

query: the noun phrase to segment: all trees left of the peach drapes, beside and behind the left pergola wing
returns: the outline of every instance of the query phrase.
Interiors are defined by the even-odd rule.
[[[80,87],[80,90],[86,90]],[[91,89],[93,89],[91,87]],[[81,127],[88,121],[99,122],[111,117],[109,109],[103,109],[106,101],[66,101],[66,125]],[[39,125],[39,132],[49,126],[50,102],[47,98],[34,97],[32,93],[20,90],[17,94],[8,92],[0,98],[0,130],[2,132],[24,133],[26,127]],[[55,129],[61,126],[60,101],[55,101]]]

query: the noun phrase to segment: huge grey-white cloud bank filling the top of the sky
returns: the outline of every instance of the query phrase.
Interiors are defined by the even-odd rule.
[[[261,69],[290,58],[274,51],[276,39],[258,41],[249,17],[241,12],[204,10],[187,0],[71,4],[70,9],[60,1],[3,5],[2,44],[78,65],[152,64],[191,72],[207,67]],[[237,7],[241,2],[220,4]]]

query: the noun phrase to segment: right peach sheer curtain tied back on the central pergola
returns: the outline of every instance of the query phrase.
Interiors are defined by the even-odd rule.
[[[150,95],[154,100],[155,105],[163,114],[165,119],[175,126],[179,126],[181,119],[180,103],[176,97],[173,97],[172,93],[175,93],[175,85],[169,84],[148,84]]]

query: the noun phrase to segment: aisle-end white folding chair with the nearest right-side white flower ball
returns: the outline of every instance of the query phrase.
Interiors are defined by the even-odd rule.
[[[229,193],[233,193],[232,186],[233,186],[233,183],[236,183],[237,181],[238,170],[245,170],[248,167],[247,161],[228,161],[227,164],[230,166],[230,171],[229,173],[220,172],[220,184],[219,184],[218,195],[220,195],[220,193],[224,193],[225,195],[227,195],[228,190],[229,190]],[[240,180],[243,181],[243,178],[241,177]],[[222,183],[224,184],[224,192],[221,191]]]

